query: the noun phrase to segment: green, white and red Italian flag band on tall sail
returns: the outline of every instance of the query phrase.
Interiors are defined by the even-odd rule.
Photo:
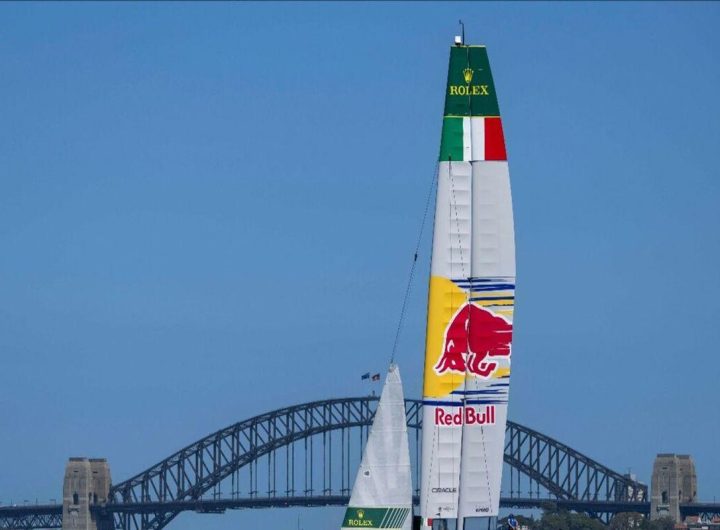
[[[440,161],[448,160],[507,160],[500,118],[446,116]]]

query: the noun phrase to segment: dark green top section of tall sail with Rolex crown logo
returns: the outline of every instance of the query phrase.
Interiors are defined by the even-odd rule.
[[[485,46],[450,48],[445,116],[499,116]]]

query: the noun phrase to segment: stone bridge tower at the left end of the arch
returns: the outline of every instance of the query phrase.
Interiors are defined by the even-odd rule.
[[[104,458],[71,458],[63,482],[62,530],[110,530],[112,517],[105,520],[91,507],[106,503],[110,491],[110,467]]]

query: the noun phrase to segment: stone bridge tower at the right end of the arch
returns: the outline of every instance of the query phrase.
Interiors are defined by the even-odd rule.
[[[671,517],[680,523],[680,504],[695,502],[697,475],[690,455],[659,454],[650,484],[650,519]]]

